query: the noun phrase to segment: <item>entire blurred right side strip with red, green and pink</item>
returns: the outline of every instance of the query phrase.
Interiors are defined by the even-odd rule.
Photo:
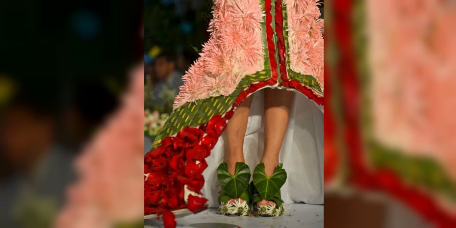
[[[456,227],[455,2],[325,14],[325,227]]]

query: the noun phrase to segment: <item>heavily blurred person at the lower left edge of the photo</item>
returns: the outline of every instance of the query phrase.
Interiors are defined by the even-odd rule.
[[[73,180],[72,153],[55,143],[56,122],[45,105],[17,96],[0,125],[0,227],[48,227]]]

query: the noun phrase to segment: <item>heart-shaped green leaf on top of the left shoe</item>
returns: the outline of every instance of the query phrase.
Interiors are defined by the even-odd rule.
[[[241,197],[250,180],[250,169],[243,162],[236,163],[234,175],[228,172],[228,165],[222,163],[217,168],[217,178],[223,191],[232,198]]]

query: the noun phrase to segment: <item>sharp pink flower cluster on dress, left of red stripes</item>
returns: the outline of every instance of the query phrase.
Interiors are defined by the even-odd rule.
[[[185,73],[174,100],[176,109],[211,96],[230,95],[242,77],[263,69],[261,22],[257,0],[214,0],[211,38]]]

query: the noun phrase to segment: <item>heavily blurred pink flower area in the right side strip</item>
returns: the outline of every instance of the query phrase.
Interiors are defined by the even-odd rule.
[[[374,137],[438,161],[456,180],[456,7],[368,1]],[[388,15],[388,16],[385,16]]]

